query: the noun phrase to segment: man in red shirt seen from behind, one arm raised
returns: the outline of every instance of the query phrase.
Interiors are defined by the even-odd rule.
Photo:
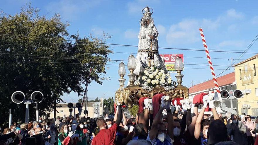
[[[92,145],[115,145],[116,130],[122,121],[122,110],[120,105],[116,111],[118,111],[117,120],[110,128],[108,128],[106,121],[103,118],[99,118],[96,121],[100,131],[92,140]]]

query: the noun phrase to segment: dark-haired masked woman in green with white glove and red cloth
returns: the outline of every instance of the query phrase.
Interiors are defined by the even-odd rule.
[[[68,125],[62,125],[60,133],[58,134],[58,145],[71,145],[73,144],[73,139],[71,139],[74,132],[68,132]]]

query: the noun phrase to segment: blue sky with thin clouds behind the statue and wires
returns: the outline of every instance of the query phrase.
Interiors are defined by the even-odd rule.
[[[258,1],[256,0],[216,0],[216,1],[168,1],[168,0],[0,0],[0,11],[15,14],[25,3],[31,2],[34,8],[40,8],[40,14],[47,17],[60,13],[63,22],[69,22],[70,35],[87,36],[89,33],[101,37],[103,32],[112,35],[107,43],[138,45],[140,30],[139,19],[142,8],[153,8],[152,18],[159,32],[159,47],[204,50],[199,28],[203,28],[209,50],[243,52],[258,33]],[[248,52],[257,53],[258,42]],[[114,52],[137,53],[137,47],[110,46]],[[182,72],[183,85],[191,87],[203,80],[211,79],[208,61],[203,51],[159,49],[159,54],[184,54],[185,69]],[[136,54],[135,54],[136,55]],[[237,59],[241,53],[210,52],[215,74],[231,65],[230,59]],[[255,54],[244,54],[247,59]],[[110,59],[127,60],[129,54],[114,53]],[[204,58],[193,58],[204,57]],[[218,59],[219,58],[219,59]],[[223,58],[223,59],[220,59]],[[239,60],[237,62],[240,62]],[[119,88],[118,64],[108,62],[107,74],[110,80],[102,85],[92,82],[88,86],[89,100],[96,97],[114,97]],[[197,65],[196,65],[197,64]],[[125,62],[126,65],[126,62]],[[223,66],[216,66],[223,65]],[[191,68],[191,69],[190,69]],[[203,69],[204,68],[204,69]],[[233,71],[225,71],[222,75]],[[129,71],[127,70],[127,73]],[[171,74],[176,81],[175,74]],[[125,76],[127,84],[129,78]],[[193,82],[193,83],[192,83]],[[84,87],[84,84],[82,84]],[[81,96],[77,93],[65,94],[62,99],[76,103]]]

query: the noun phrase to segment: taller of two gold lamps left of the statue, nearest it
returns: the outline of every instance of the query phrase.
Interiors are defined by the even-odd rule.
[[[131,54],[128,57],[127,68],[130,71],[130,73],[128,74],[129,81],[130,81],[130,85],[129,86],[134,86],[134,81],[135,81],[136,74],[134,74],[133,71],[136,68],[136,62],[135,62],[135,57],[133,56],[133,54]]]

